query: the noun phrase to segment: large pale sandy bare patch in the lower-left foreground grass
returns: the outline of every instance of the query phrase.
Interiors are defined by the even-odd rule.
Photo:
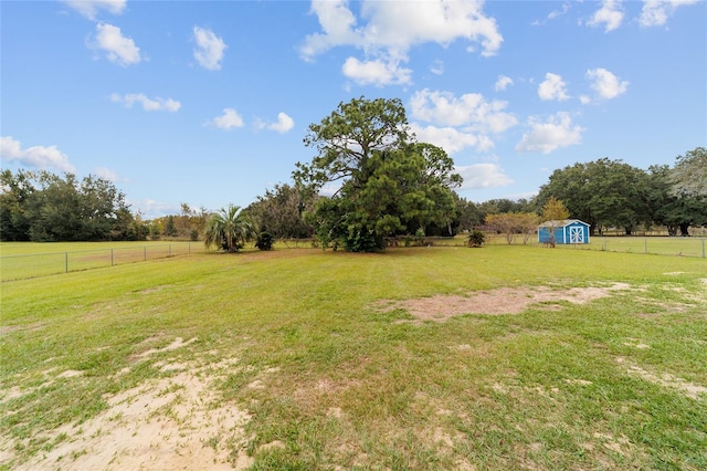
[[[52,439],[65,439],[28,462],[13,463],[13,469],[245,469],[253,463],[245,451],[250,415],[215,390],[238,368],[238,358],[165,363],[161,370],[172,376],[106,396],[104,411],[81,425],[49,432]],[[63,375],[82,380],[70,371]],[[14,461],[19,444],[9,438],[0,440],[0,461]]]

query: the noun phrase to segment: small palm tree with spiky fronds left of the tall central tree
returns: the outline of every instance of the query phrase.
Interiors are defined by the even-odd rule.
[[[240,210],[240,206],[229,205],[209,217],[203,240],[207,249],[218,245],[228,252],[238,252],[253,239],[253,224],[241,217]]]

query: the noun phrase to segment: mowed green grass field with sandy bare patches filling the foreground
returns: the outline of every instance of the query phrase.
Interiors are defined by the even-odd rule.
[[[0,289],[0,469],[707,469],[701,258],[197,252]]]

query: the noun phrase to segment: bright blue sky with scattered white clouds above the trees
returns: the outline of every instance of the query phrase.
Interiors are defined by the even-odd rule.
[[[2,1],[2,167],[97,175],[145,218],[247,206],[307,127],[402,100],[473,201],[707,146],[704,1]]]

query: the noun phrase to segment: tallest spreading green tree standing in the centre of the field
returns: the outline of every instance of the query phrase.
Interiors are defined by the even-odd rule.
[[[297,164],[295,181],[317,191],[339,185],[309,216],[323,243],[369,252],[383,249],[390,236],[451,226],[451,188],[461,177],[443,149],[414,140],[400,100],[340,103],[309,126],[304,142],[318,155]]]

